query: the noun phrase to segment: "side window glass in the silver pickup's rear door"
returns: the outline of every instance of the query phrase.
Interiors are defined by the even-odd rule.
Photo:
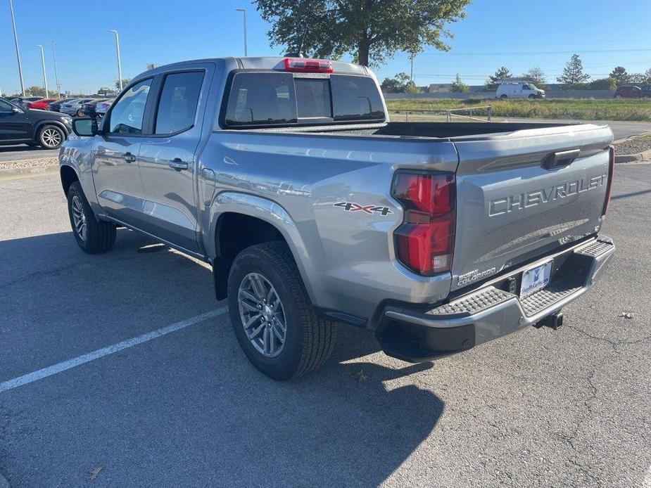
[[[155,134],[174,134],[194,125],[203,71],[165,76],[156,113]]]

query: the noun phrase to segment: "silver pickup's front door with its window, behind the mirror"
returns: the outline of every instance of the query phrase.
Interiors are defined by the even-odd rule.
[[[113,105],[94,141],[94,183],[99,205],[110,217],[141,228],[144,188],[138,156],[151,110],[153,79],[130,86]]]

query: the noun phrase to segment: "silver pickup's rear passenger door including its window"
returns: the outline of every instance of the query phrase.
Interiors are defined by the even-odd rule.
[[[195,153],[212,72],[212,64],[198,63],[158,75],[152,131],[140,148],[142,229],[191,252],[199,250]]]

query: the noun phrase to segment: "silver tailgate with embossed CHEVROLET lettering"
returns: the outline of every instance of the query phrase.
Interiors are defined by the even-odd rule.
[[[526,129],[453,142],[459,155],[453,290],[599,230],[609,127]]]

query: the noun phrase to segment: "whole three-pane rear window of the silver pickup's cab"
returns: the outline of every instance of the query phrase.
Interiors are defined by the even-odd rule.
[[[374,79],[361,75],[239,71],[226,92],[222,127],[384,122]]]

